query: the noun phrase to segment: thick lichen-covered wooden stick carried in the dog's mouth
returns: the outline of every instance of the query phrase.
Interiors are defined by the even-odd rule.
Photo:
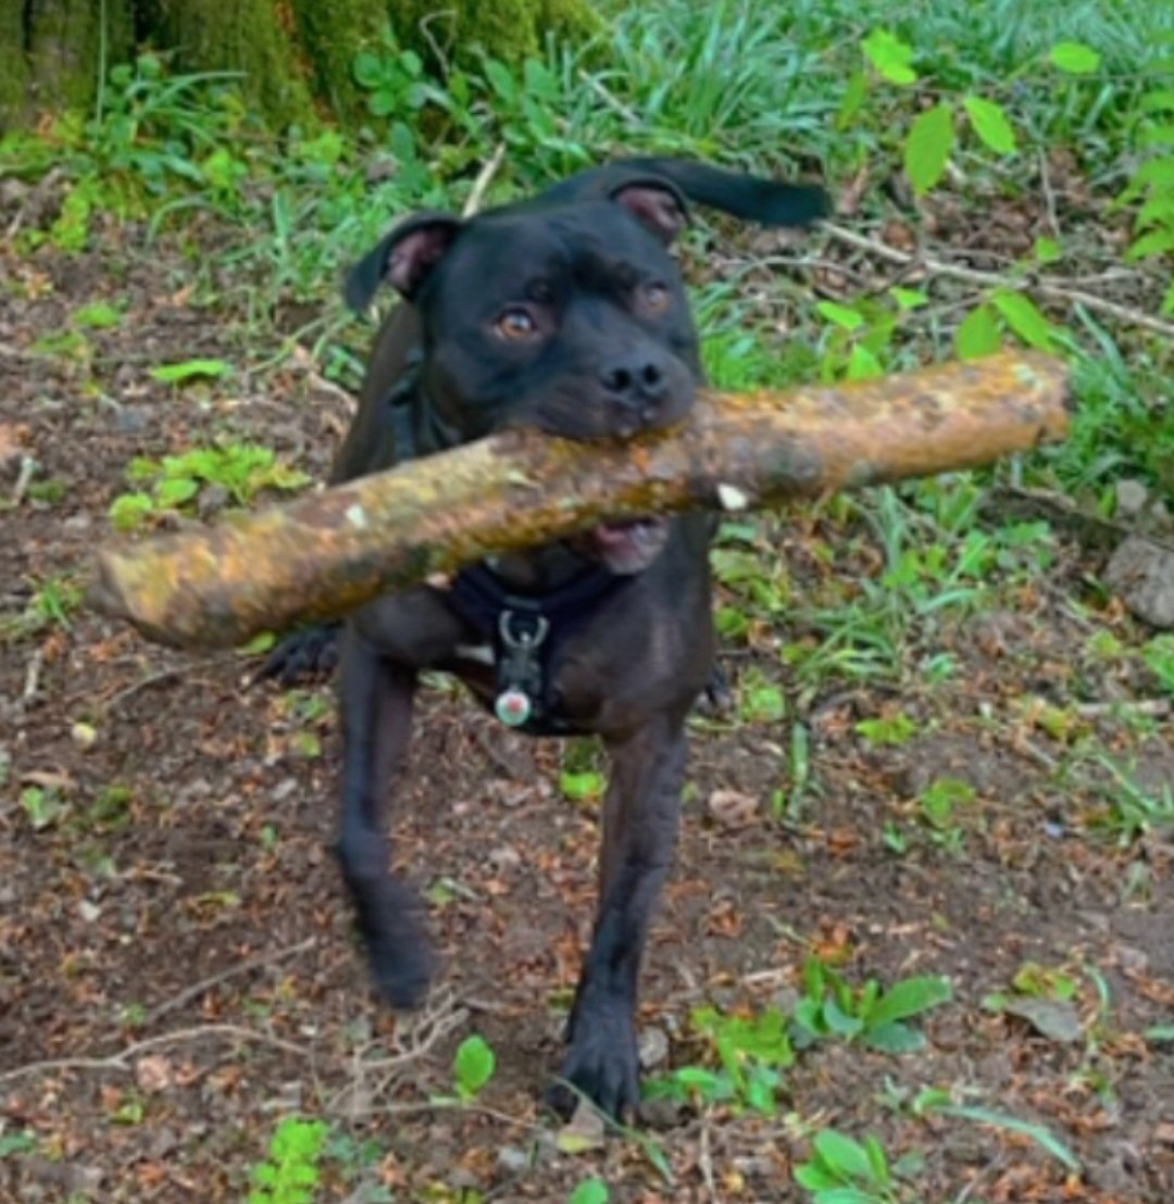
[[[781,395],[707,394],[627,443],[507,432],[290,506],[100,551],[89,602],[179,648],[344,614],[603,519],[769,506],[987,464],[1061,438],[1067,371],[1003,353]]]

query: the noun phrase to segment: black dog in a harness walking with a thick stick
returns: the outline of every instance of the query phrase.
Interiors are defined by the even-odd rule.
[[[331,473],[347,480],[511,426],[626,438],[679,419],[701,382],[697,336],[667,247],[685,197],[775,225],[826,209],[822,190],[703,164],[631,159],[468,220],[421,213],[352,271],[406,300],[382,327]],[[382,813],[408,739],[417,674],[456,674],[507,724],[596,733],[610,755],[600,903],[561,1079],[619,1116],[639,1100],[636,990],[673,850],[685,718],[714,639],[706,514],[602,524],[477,565],[452,589],[380,598],[346,624],[338,855],[379,993],[418,1004],[432,973],[420,907],[388,870]],[[287,643],[297,673],[329,633]],[[555,1103],[566,1111],[573,1092]]]

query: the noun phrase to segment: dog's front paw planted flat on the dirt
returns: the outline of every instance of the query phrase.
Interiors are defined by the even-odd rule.
[[[573,1114],[580,1093],[617,1121],[639,1109],[639,1054],[627,1001],[580,1001],[559,1079],[547,1102],[564,1119]]]

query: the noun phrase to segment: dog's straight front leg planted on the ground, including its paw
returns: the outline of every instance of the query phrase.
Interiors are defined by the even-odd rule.
[[[682,715],[660,715],[609,742],[612,778],[603,804],[600,908],[567,1025],[561,1078],[608,1115],[639,1105],[636,990],[653,907],[668,873],[685,774]],[[556,1085],[567,1114],[574,1093]]]

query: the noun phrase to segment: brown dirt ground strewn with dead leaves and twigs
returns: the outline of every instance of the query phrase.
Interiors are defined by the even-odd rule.
[[[22,458],[35,480],[60,483],[0,510],[0,618],[108,537],[134,455],[228,436],[320,478],[346,423],[346,399],[307,368],[255,368],[276,346],[258,347],[231,305],[196,307],[182,256],[132,247],[122,231],[82,256],[0,260],[0,504]],[[46,343],[94,301],[124,306],[125,320],[87,330],[84,347]],[[197,355],[236,373],[187,388],[148,376]],[[814,535],[836,538],[830,523],[772,529],[797,589],[861,569],[863,551],[810,555]],[[590,922],[597,827],[591,802],[560,797],[556,743],[512,736],[443,683],[424,691],[395,838],[429,892],[446,967],[426,1011],[396,1017],[371,998],[330,854],[329,687],[253,685],[255,660],[173,654],[83,610],[10,638],[0,1198],[243,1200],[275,1123],[300,1111],[334,1123],[323,1200],[555,1204],[592,1173],[620,1202],[798,1200],[791,1168],[813,1129],[834,1126],[920,1156],[908,1198],[924,1204],[1169,1202],[1174,1052],[1143,1033],[1174,1014],[1172,845],[1098,836],[1104,799],[1064,785],[1064,733],[1023,704],[1078,698],[1082,734],[1134,759],[1150,789],[1174,780],[1168,714],[1143,725],[1111,706],[1152,701],[1155,684],[1080,651],[1098,630],[1138,639],[1090,590],[1101,555],[1061,544],[1040,579],[943,626],[936,649],[962,672],[932,689],[913,675],[899,695],[801,690],[780,667],[783,632],[730,650],[733,679],[754,668],[791,713],[696,725],[645,1029],[667,1039],[669,1066],[701,1061],[692,1007],[789,1005],[813,950],[857,982],[946,975],[954,999],[930,1014],[920,1052],[802,1051],[775,1117],[682,1109],[643,1140],[582,1155],[557,1149],[539,1102]],[[898,708],[916,720],[904,743],[856,731]],[[787,781],[795,719],[812,733],[812,781],[784,822],[769,798]],[[949,839],[914,802],[944,775],[977,793]],[[29,787],[47,814],[22,802]],[[886,825],[907,834],[903,852]],[[1030,962],[1076,985],[1069,1039],[983,1007]],[[453,1051],[471,1032],[496,1052],[494,1080],[468,1108],[430,1105],[452,1093]],[[914,1115],[909,1098],[930,1086],[1048,1126],[1082,1171],[1005,1126]]]

